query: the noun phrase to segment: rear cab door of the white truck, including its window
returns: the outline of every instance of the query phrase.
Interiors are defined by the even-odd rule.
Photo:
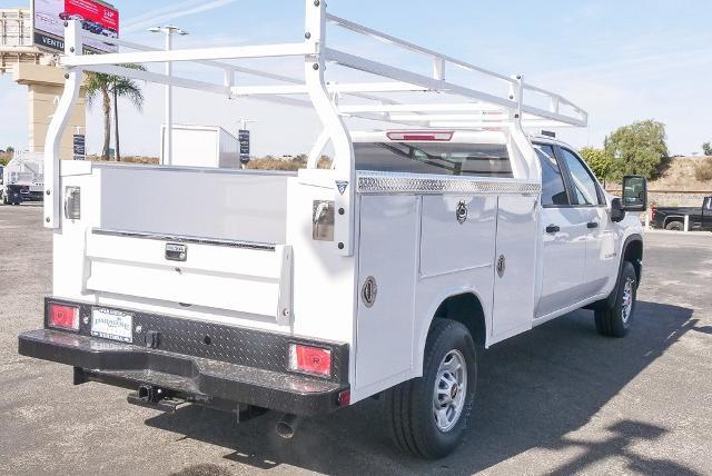
[[[572,207],[564,169],[551,145],[534,145],[542,163],[542,294],[536,317],[583,299],[587,217]]]

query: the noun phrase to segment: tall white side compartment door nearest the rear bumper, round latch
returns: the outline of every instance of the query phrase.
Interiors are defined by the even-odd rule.
[[[389,378],[413,366],[419,202],[412,196],[362,197],[355,376],[359,391],[380,391],[390,386]]]

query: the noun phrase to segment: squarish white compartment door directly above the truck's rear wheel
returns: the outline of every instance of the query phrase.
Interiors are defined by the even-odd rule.
[[[461,202],[467,207],[467,219],[463,224],[456,216]],[[496,197],[423,197],[421,277],[492,262],[496,208]]]

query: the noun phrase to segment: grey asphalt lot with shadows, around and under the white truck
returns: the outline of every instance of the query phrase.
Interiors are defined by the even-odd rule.
[[[647,236],[626,339],[577,311],[490,349],[466,442],[424,463],[395,453],[377,400],[287,443],[270,414],[239,426],[196,407],[162,415],[18,356],[51,290],[40,211],[0,207],[0,474],[712,474],[711,235]]]

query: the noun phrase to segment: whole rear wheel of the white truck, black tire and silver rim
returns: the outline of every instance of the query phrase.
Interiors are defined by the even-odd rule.
[[[386,393],[396,446],[426,459],[452,453],[467,429],[476,383],[477,353],[469,331],[457,321],[436,319],[425,344],[423,377]],[[436,393],[436,388],[441,391]]]

